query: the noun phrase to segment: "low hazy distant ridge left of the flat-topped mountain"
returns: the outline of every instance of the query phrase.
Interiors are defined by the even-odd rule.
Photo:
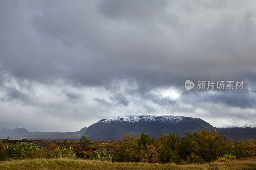
[[[17,138],[17,139],[41,139],[41,140],[70,140],[81,137],[87,127],[77,132],[29,132],[25,128],[7,129],[0,127],[0,138]]]

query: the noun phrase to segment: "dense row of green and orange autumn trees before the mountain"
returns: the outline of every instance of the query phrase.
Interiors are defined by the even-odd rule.
[[[150,138],[148,134],[123,135],[114,150],[113,161],[148,163],[206,163],[214,160],[231,161],[236,158],[256,156],[256,144],[252,139],[228,142],[217,130],[187,133],[181,137],[175,133]]]

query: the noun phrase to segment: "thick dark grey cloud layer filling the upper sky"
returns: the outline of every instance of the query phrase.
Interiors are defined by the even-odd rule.
[[[15,12],[6,12],[5,18],[19,20],[6,24],[8,39],[1,51],[8,57],[1,62],[20,78],[42,82],[61,78],[82,85],[104,85],[113,78],[135,78],[155,86],[182,85],[186,78],[229,78],[255,72],[255,13],[220,16],[228,8],[223,3],[10,4]],[[218,11],[215,5],[222,8]],[[183,6],[193,10],[182,13]],[[208,15],[197,15],[209,7],[213,9]],[[12,38],[13,32],[18,37]]]

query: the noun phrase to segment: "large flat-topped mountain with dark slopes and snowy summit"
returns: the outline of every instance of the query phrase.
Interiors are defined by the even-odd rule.
[[[127,133],[148,133],[160,136],[162,133],[194,132],[201,129],[213,129],[213,127],[199,119],[172,115],[125,115],[108,119],[102,119],[93,123],[85,131],[84,136],[91,140],[120,140]]]

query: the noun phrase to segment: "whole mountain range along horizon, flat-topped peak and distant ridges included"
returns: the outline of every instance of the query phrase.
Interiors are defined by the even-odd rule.
[[[186,136],[187,132],[202,129],[217,129],[229,141],[248,140],[256,141],[255,123],[213,127],[199,118],[184,116],[154,116],[154,115],[128,115],[109,119],[102,119],[91,126],[84,127],[77,132],[29,132],[25,128],[7,129],[0,127],[0,138],[41,139],[41,140],[79,140],[84,135],[91,140],[120,140],[127,133],[148,133],[150,136],[160,137],[162,133],[179,133]]]

